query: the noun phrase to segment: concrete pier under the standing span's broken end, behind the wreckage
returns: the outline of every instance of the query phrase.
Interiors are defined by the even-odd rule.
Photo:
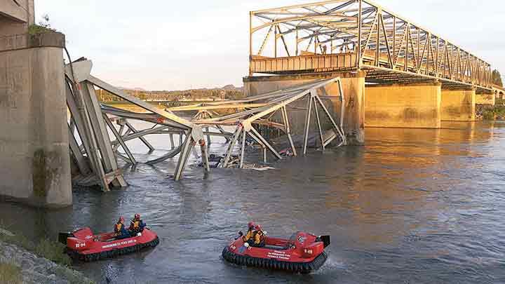
[[[323,73],[323,74],[301,74],[301,75],[281,75],[281,76],[248,76],[243,79],[246,96],[260,95],[274,90],[281,90],[290,86],[315,81],[319,79],[331,79],[340,77],[342,79],[342,89],[345,97],[344,131],[348,145],[363,145],[365,143],[365,73]],[[339,117],[340,99],[337,83],[326,87],[328,97],[325,100],[332,102],[332,112],[335,117]],[[300,106],[304,107],[304,106]],[[292,132],[297,133],[304,126],[304,111],[299,115],[291,117],[293,120]],[[314,121],[314,120],[313,120]],[[297,129],[297,126],[299,129]]]

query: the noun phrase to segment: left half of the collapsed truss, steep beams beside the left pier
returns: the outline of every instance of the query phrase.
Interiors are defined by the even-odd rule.
[[[97,180],[100,180],[102,189],[109,190],[109,184],[115,186],[126,187],[126,182],[118,169],[117,158],[121,158],[127,163],[137,163],[135,157],[126,145],[126,141],[140,139],[148,148],[149,152],[154,151],[154,147],[145,140],[144,136],[152,133],[159,133],[162,130],[172,129],[173,133],[178,133],[182,140],[182,134],[185,135],[184,143],[180,142],[180,146],[171,151],[169,154],[158,158],[148,163],[159,163],[166,158],[173,158],[179,154],[179,161],[175,168],[174,179],[180,180],[187,165],[189,154],[196,143],[205,146],[206,142],[203,136],[201,127],[182,119],[175,114],[154,107],[148,102],[138,100],[132,95],[128,95],[114,86],[105,83],[104,81],[90,75],[92,63],[88,60],[73,62],[72,65],[67,65],[66,74],[67,81],[67,104],[72,114],[72,125],[76,126],[77,135],[81,138],[83,146],[79,147],[75,139],[71,139],[70,144],[73,156],[76,158],[76,163],[79,165],[81,172],[87,172],[86,164],[84,163],[84,150],[89,158],[93,168],[93,173]],[[74,86],[74,90],[70,88]],[[100,105],[95,94],[95,88],[107,90],[109,93],[121,97],[132,104],[144,109],[145,113],[134,113],[123,109]],[[116,129],[109,116],[117,116],[121,119],[118,121],[119,130]],[[126,119],[140,119],[160,125],[157,128],[149,130],[137,130]],[[116,140],[111,142],[107,127],[111,130]],[[74,135],[73,127],[69,126],[69,134]],[[125,128],[128,128],[126,133],[123,133]],[[173,133],[170,133],[171,146],[173,144]],[[73,143],[75,142],[75,143]],[[117,148],[120,145],[126,152],[126,156],[117,153]],[[202,159],[204,161],[203,170],[208,172],[208,156],[206,147],[202,146]],[[81,150],[82,149],[82,150]],[[115,155],[114,155],[115,154]]]

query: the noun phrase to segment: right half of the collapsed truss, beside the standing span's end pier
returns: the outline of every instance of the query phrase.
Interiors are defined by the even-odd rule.
[[[336,83],[339,93],[328,95],[326,87],[330,84]],[[338,97],[340,100],[340,117],[339,120],[332,117],[330,111],[325,107],[322,98]],[[227,151],[224,154],[224,159],[220,163],[221,168],[229,167],[229,161],[234,148],[238,146],[240,149],[238,154],[239,168],[244,166],[245,158],[245,140],[247,137],[252,138],[257,144],[260,145],[263,152],[263,162],[267,162],[267,151],[270,151],[272,156],[280,159],[281,154],[275,147],[265,139],[257,126],[264,125],[270,128],[277,128],[288,139],[290,149],[294,156],[297,156],[295,143],[291,136],[291,126],[289,121],[288,112],[290,107],[295,102],[307,102],[305,110],[304,134],[302,140],[302,152],[307,154],[307,147],[309,146],[309,126],[311,125],[311,116],[316,117],[316,127],[318,133],[318,140],[321,145],[321,150],[324,151],[332,141],[337,140],[336,147],[346,144],[346,135],[344,134],[344,93],[342,93],[342,81],[339,78],[321,79],[311,81],[309,83],[302,83],[297,86],[276,90],[261,95],[247,97],[243,100],[229,100],[222,102],[206,102],[201,104],[193,104],[184,107],[172,107],[167,109],[170,112],[177,114],[178,111],[198,111],[191,121],[201,128],[206,129],[208,135],[208,144],[210,144],[211,135],[225,135],[229,136],[229,144]],[[213,117],[210,111],[222,109],[239,109],[233,114],[220,116],[215,114]],[[320,109],[322,110],[320,113]],[[279,119],[274,116],[278,114]],[[330,129],[326,130],[323,127],[322,119],[330,121]],[[337,123],[338,122],[338,123]],[[225,133],[222,126],[234,126],[234,133]],[[220,133],[210,133],[209,128],[216,128]]]

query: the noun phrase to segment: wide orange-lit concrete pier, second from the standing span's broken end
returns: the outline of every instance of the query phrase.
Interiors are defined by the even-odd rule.
[[[365,127],[440,128],[440,83],[367,85]]]

